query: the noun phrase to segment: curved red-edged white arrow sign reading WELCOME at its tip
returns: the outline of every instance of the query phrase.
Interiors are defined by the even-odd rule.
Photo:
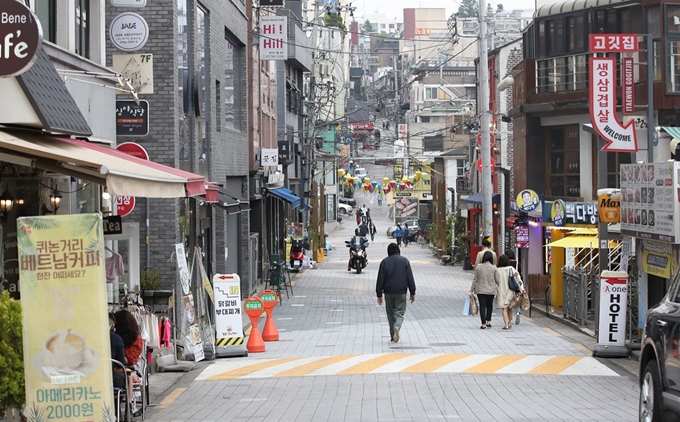
[[[590,58],[590,121],[607,145],[602,151],[637,152],[635,122],[622,125],[616,117],[616,59]]]

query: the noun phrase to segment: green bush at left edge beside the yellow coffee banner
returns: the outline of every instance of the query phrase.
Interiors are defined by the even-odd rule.
[[[24,405],[23,355],[21,303],[5,291],[0,294],[0,416]]]

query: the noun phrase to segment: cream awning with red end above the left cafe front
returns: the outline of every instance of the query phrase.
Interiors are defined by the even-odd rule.
[[[0,149],[34,167],[104,185],[112,195],[182,198],[206,193],[203,176],[87,141],[5,129]]]

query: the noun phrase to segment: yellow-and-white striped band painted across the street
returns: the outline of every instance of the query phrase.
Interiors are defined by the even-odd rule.
[[[208,366],[198,381],[379,373],[619,376],[590,356],[381,353],[285,359],[235,358]]]

